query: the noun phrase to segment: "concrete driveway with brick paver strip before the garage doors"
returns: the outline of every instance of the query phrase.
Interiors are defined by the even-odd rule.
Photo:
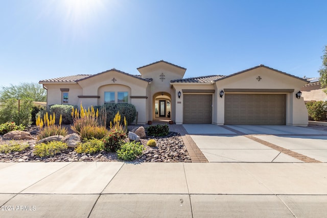
[[[327,162],[327,131],[293,126],[183,125],[209,162]]]

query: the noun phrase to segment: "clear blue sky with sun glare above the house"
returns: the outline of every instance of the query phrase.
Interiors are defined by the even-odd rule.
[[[0,0],[0,86],[165,60],[185,78],[259,64],[318,77],[326,1]]]

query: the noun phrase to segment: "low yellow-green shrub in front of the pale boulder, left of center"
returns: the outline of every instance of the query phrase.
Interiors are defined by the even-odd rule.
[[[62,141],[50,141],[49,143],[36,144],[34,154],[39,157],[55,156],[68,149],[66,143]]]

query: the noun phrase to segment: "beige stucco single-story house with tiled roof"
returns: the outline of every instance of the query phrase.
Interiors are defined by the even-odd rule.
[[[229,76],[183,78],[186,68],[167,61],[138,67],[140,75],[110,69],[95,75],[41,80],[48,105],[131,103],[138,123],[170,117],[176,124],[307,126],[308,81],[268,66]]]

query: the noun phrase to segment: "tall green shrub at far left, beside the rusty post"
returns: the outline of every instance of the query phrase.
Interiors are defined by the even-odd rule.
[[[30,126],[31,112],[33,102],[32,100],[20,100],[18,110],[18,100],[9,99],[0,108],[0,124],[6,122],[15,122],[17,125]]]

